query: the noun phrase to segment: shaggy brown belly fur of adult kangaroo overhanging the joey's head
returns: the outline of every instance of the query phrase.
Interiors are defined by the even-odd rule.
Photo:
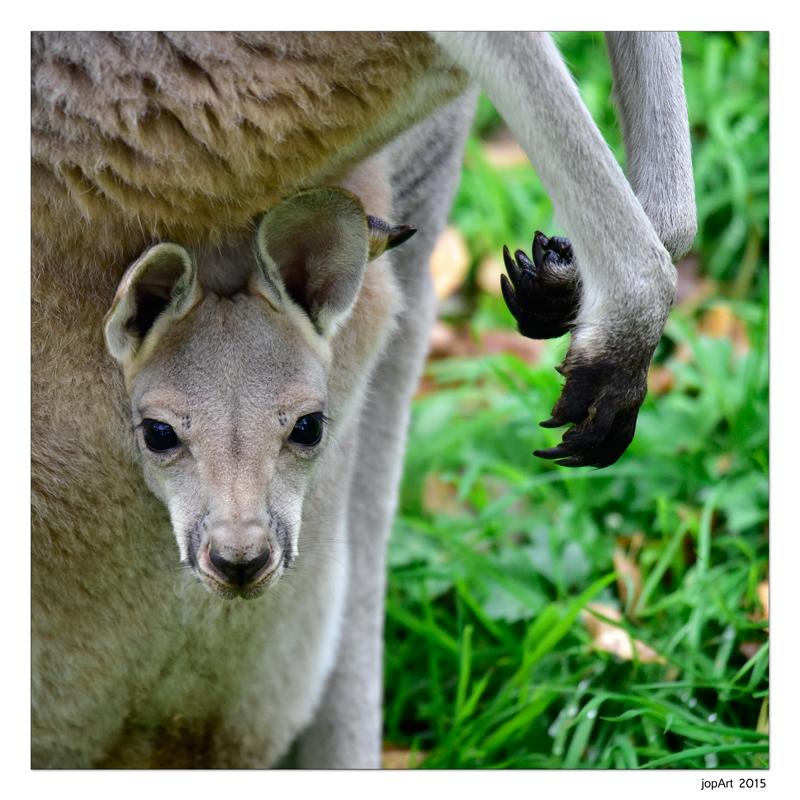
[[[218,238],[466,85],[422,33],[34,34],[33,51],[34,235],[62,250],[87,220]],[[78,227],[54,218],[68,203]]]

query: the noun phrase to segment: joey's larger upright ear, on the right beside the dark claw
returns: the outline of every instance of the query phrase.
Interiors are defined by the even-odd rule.
[[[298,305],[328,336],[353,305],[369,254],[367,215],[343,189],[314,189],[264,214],[255,234],[255,290]]]

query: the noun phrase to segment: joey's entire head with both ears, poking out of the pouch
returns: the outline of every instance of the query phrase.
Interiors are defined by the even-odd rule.
[[[210,591],[258,597],[297,558],[303,501],[336,424],[331,343],[370,256],[412,232],[368,218],[348,192],[312,190],[259,220],[238,292],[209,291],[194,255],[172,243],[123,276],[106,343],[125,376],[147,484]]]

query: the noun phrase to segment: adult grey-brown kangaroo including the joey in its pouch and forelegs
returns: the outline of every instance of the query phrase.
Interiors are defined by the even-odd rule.
[[[544,34],[33,34],[34,767],[378,766],[386,540],[475,81],[574,251],[573,427],[545,455],[633,435],[693,183],[677,37],[607,42],[630,183]]]

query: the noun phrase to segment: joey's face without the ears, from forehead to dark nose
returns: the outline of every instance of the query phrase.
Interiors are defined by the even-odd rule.
[[[261,297],[209,295],[132,382],[145,479],[222,597],[258,597],[291,566],[329,443],[325,349],[291,328]]]

